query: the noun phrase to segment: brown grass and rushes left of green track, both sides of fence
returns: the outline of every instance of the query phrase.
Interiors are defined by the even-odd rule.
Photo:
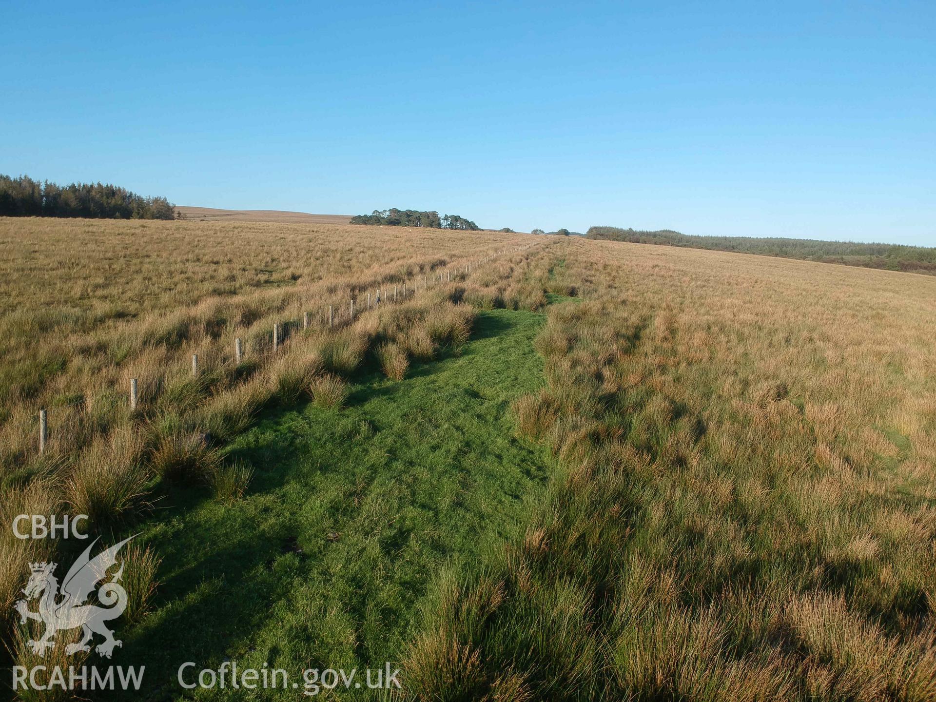
[[[315,383],[315,402],[344,402],[346,387],[321,367],[353,373],[378,336],[411,332],[416,353],[431,356],[427,315],[440,341],[462,343],[471,313],[451,310],[449,273],[464,280],[469,261],[521,241],[399,227],[0,218],[0,511],[70,505],[100,529],[147,505],[152,474],[167,489],[211,483],[214,446],[267,403],[295,402]],[[382,303],[368,311],[377,288]],[[403,312],[389,333],[381,325],[393,309]],[[50,427],[42,457],[40,408]],[[26,543],[4,549],[3,602],[21,586],[23,559],[40,555]]]

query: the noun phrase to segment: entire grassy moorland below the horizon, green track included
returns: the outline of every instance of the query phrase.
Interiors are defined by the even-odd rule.
[[[0,292],[22,300],[0,317],[0,514],[58,511],[81,475],[116,486],[94,496],[105,534],[141,529],[164,559],[154,610],[122,631],[127,662],[160,651],[153,698],[183,654],[389,658],[424,699],[936,697],[928,277],[564,238],[176,226],[26,222],[4,240],[22,261],[0,263]],[[234,233],[238,253],[204,257]],[[121,268],[109,251],[133,241]],[[94,260],[52,280],[47,242]],[[405,298],[352,323],[348,296],[403,281]],[[522,311],[550,302],[545,326]],[[473,308],[480,333],[460,347]],[[378,372],[383,344],[404,350],[402,381]],[[296,395],[312,355],[344,375],[342,406]],[[41,460],[39,406],[55,421]],[[101,460],[126,430],[141,461]],[[212,493],[225,459],[254,466],[240,498]],[[116,479],[140,465],[146,495]],[[7,603],[24,559],[63,548],[3,546]]]

